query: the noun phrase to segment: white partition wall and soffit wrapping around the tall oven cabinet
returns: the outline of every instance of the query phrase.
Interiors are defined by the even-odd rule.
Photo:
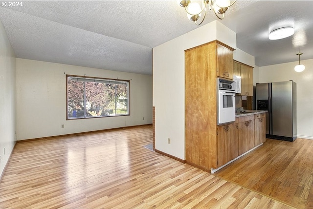
[[[154,48],[153,105],[156,107],[157,150],[185,159],[184,50],[214,40],[236,48],[236,34],[218,21]],[[171,144],[167,143],[168,138],[171,138]]]

